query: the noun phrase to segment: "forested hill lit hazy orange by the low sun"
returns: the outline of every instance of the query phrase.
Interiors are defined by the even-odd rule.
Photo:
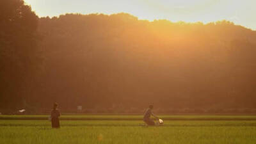
[[[36,33],[42,61],[16,106],[256,108],[256,31],[232,22],[67,14]]]

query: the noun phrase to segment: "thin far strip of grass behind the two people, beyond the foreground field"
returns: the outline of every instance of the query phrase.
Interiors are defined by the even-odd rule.
[[[160,115],[163,120],[256,120],[255,115]],[[0,120],[47,120],[47,115],[0,115]],[[141,115],[62,115],[61,120],[141,120]]]

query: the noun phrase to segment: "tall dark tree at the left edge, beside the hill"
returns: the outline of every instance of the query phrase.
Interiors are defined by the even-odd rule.
[[[0,108],[22,106],[37,67],[38,17],[23,0],[0,1]]]

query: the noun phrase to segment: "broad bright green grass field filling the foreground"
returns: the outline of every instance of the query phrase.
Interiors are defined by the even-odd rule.
[[[164,126],[141,127],[137,120],[0,120],[4,144],[255,144],[255,120],[175,120]]]

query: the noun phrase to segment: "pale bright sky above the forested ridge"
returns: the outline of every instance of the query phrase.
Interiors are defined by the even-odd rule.
[[[230,20],[256,30],[256,0],[24,0],[40,17],[65,13],[130,13],[172,22]]]

